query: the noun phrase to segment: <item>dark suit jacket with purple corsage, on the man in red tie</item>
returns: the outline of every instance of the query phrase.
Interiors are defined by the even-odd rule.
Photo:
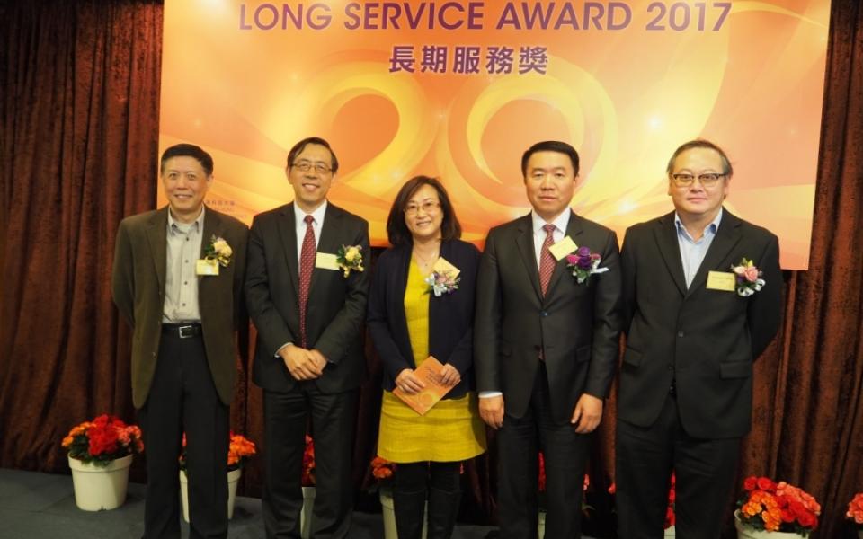
[[[557,261],[547,294],[539,271],[530,215],[492,229],[476,278],[476,388],[502,391],[505,411],[528,409],[542,350],[552,417],[565,423],[582,393],[608,396],[618,358],[620,269],[617,236],[573,212],[566,228],[579,246],[602,257],[609,271],[578,284]]]

